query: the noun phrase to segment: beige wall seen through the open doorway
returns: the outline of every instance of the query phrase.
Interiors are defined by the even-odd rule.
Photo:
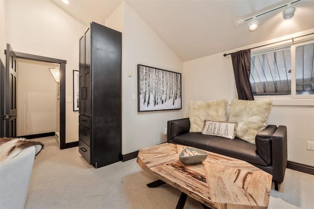
[[[56,64],[17,60],[17,136],[56,131],[57,83],[49,68]]]

